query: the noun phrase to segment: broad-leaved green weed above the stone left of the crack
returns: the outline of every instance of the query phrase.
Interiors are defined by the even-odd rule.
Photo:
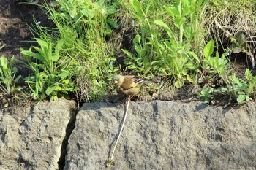
[[[21,50],[26,60],[26,66],[34,72],[33,75],[25,78],[32,97],[38,101],[45,98],[50,98],[50,100],[69,98],[69,92],[74,92],[77,88],[72,82],[75,72],[59,61],[59,52],[64,41],[60,40],[53,51],[51,42],[45,42],[42,39],[36,40],[40,45],[40,47],[34,47],[37,53],[34,53],[32,48]]]

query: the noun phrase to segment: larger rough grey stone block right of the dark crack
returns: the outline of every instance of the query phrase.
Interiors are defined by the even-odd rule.
[[[83,104],[64,169],[256,169],[256,104],[222,109],[131,103],[115,165],[106,168],[126,104]]]

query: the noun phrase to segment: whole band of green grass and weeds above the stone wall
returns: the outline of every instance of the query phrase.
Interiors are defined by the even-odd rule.
[[[69,93],[80,101],[103,100],[114,93],[114,74],[158,77],[154,98],[190,84],[201,88],[197,96],[207,102],[219,92],[239,103],[255,100],[255,77],[249,70],[246,78],[236,77],[228,59],[238,50],[252,59],[255,1],[59,0],[41,7],[56,27],[31,28],[37,42],[47,45],[34,47],[37,52],[30,55],[59,49],[59,57],[51,65],[27,60],[30,67],[54,66],[51,71],[39,67],[26,80],[31,93],[41,96],[37,100]],[[44,82],[37,85],[39,79]],[[58,84],[62,80],[72,82],[72,90]]]

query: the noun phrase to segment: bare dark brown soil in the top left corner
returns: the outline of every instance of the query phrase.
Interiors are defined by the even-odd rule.
[[[34,19],[48,24],[48,17],[37,5],[23,4],[26,0],[0,1],[0,56],[22,59],[20,48],[28,50],[34,43],[29,28],[34,25]],[[18,74],[26,76],[28,70],[18,65]]]

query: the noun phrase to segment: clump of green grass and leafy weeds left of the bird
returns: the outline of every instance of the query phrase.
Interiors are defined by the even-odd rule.
[[[34,36],[39,36],[39,45],[42,47],[40,42],[48,43],[47,47],[34,47],[39,53],[33,53],[31,49],[22,51],[29,67],[34,71],[34,75],[27,77],[26,82],[38,100],[49,95],[51,99],[56,99],[75,91],[83,100],[101,100],[110,89],[110,77],[116,72],[113,64],[111,65],[116,61],[111,56],[113,47],[106,42],[113,28],[118,27],[112,18],[116,12],[116,4],[108,1],[56,2],[57,4],[42,6],[56,28],[39,25],[32,28]],[[53,58],[56,68],[42,60],[34,63],[29,58],[32,56],[40,59],[37,55],[44,55],[46,52],[42,51],[50,51],[52,46],[61,47],[58,55],[46,54],[43,58],[58,56]],[[44,66],[50,66],[51,70],[44,70]]]

